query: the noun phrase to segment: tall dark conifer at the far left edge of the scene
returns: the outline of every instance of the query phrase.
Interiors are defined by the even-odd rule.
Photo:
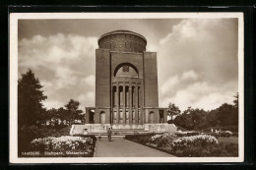
[[[36,125],[40,114],[45,110],[42,101],[47,98],[41,90],[43,86],[34,77],[32,70],[22,75],[18,80],[18,126]]]

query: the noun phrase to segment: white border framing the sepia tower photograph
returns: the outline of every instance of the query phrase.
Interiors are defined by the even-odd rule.
[[[18,157],[18,20],[20,19],[238,19],[238,157]],[[242,162],[244,160],[244,20],[243,13],[11,13],[10,14],[10,163]]]

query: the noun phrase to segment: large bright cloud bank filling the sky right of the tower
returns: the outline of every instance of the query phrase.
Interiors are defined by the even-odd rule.
[[[237,21],[183,20],[159,41],[160,106],[214,109],[238,90]]]

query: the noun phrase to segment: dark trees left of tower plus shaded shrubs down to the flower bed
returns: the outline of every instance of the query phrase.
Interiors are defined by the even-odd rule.
[[[42,101],[47,96],[43,94],[42,87],[32,70],[18,80],[19,153],[26,150],[35,138],[68,135],[69,128],[65,132],[59,130],[85,121],[85,113],[79,109],[79,101],[74,99],[70,99],[66,105],[57,109],[44,108]]]

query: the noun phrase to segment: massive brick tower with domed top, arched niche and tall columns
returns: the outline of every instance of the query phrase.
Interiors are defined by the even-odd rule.
[[[86,108],[87,123],[166,123],[159,108],[157,53],[146,51],[147,39],[129,30],[98,38],[96,107]]]

